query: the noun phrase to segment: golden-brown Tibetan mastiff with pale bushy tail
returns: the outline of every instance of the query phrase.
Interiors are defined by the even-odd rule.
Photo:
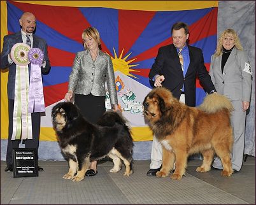
[[[153,134],[162,145],[162,168],[157,176],[181,180],[187,167],[188,155],[202,153],[203,164],[197,172],[207,172],[215,153],[222,160],[222,176],[231,176],[233,144],[230,111],[231,102],[219,94],[207,95],[197,108],[189,107],[167,88],[154,88],[143,102],[143,114]]]

